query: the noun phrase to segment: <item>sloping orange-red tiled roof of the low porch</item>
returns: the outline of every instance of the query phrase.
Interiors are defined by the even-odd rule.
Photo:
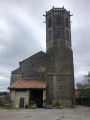
[[[33,88],[46,88],[46,82],[43,80],[17,80],[11,84],[8,89],[33,89]]]

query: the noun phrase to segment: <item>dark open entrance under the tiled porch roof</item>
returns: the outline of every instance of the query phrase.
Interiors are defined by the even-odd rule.
[[[43,107],[43,90],[30,90],[30,101],[35,101],[38,108]]]

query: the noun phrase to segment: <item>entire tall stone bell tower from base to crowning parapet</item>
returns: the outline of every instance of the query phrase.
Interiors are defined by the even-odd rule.
[[[70,16],[64,7],[46,12],[46,97],[53,105],[70,106],[75,98]]]

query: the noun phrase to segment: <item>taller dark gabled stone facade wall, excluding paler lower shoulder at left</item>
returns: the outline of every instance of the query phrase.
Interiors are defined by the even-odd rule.
[[[39,52],[30,58],[20,62],[23,78],[45,77],[45,72],[39,72],[39,67],[46,68],[46,54]]]

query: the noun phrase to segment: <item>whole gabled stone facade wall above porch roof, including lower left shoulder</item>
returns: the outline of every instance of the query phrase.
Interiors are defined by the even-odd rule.
[[[40,72],[39,67],[43,67],[44,71]],[[20,62],[20,68],[11,74],[11,84],[20,78],[46,80],[46,53],[39,52]]]

